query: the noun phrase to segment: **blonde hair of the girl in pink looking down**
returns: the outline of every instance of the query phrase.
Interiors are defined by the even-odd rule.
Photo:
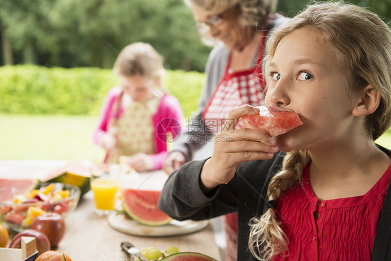
[[[134,42],[118,54],[113,70],[119,76],[138,74],[146,79],[157,79],[164,74],[163,59],[151,45]]]

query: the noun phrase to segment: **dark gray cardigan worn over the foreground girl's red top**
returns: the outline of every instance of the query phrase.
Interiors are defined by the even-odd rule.
[[[391,155],[390,150],[381,150]],[[266,212],[267,187],[271,177],[280,171],[284,156],[284,152],[278,152],[273,159],[240,164],[228,184],[219,185],[207,195],[201,191],[199,182],[205,160],[191,161],[170,175],[159,198],[159,209],[179,221],[212,219],[237,212],[237,260],[255,261],[248,251],[248,223]],[[391,260],[391,186],[378,223],[372,257],[376,261]]]

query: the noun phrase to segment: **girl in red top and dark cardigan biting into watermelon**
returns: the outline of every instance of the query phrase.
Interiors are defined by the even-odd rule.
[[[212,157],[170,175],[159,207],[179,220],[237,212],[237,260],[389,258],[391,151],[374,141],[391,124],[390,29],[365,8],[319,3],[266,48],[266,106],[303,125],[275,137],[226,125]]]

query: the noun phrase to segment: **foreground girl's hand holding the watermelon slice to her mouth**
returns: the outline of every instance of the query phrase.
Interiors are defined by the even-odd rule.
[[[257,129],[235,129],[239,118],[246,114],[259,113],[259,109],[244,105],[233,109],[223,125],[223,132],[217,134],[212,157],[201,171],[203,191],[212,190],[218,184],[229,182],[244,161],[271,159],[278,151],[276,141]]]

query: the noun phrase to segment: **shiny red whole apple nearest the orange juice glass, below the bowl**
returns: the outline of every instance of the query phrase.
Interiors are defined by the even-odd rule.
[[[65,221],[61,214],[45,213],[37,216],[31,228],[44,233],[49,239],[50,246],[57,246],[65,234]]]

